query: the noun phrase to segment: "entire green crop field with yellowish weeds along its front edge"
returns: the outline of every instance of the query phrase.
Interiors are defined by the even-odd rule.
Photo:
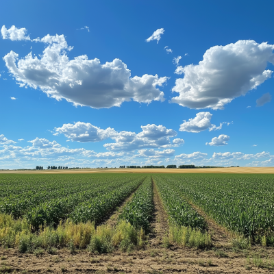
[[[0,247],[36,257],[243,252],[274,270],[274,175],[1,174]]]

